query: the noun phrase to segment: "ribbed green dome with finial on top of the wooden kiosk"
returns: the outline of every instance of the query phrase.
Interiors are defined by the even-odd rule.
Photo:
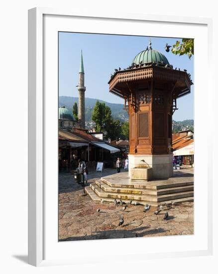
[[[139,52],[135,58],[132,60],[132,65],[136,64],[146,64],[146,63],[163,63],[165,65],[169,64],[167,58],[158,50],[152,49],[151,41],[149,42],[149,47],[145,50]]]

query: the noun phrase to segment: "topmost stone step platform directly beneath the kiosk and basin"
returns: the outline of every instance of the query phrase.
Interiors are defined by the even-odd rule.
[[[163,188],[172,188],[172,187],[180,187],[180,186],[188,186],[188,185],[194,185],[194,180],[189,178],[189,180],[183,180],[179,182],[173,182],[171,180],[172,178],[169,178],[168,180],[152,180],[149,182],[133,182],[126,179],[117,180],[115,181],[114,178],[111,180],[106,177],[102,177],[101,181],[109,185],[110,187],[125,187],[125,188],[140,188],[140,189],[163,189]]]

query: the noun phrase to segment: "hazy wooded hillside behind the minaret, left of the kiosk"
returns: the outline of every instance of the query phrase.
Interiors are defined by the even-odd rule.
[[[92,111],[98,99],[93,98],[85,98],[85,112],[86,112],[86,121],[90,122],[92,117]],[[102,100],[98,100],[101,103],[105,103],[111,109],[112,116],[114,119],[118,119],[120,122],[124,122],[128,120],[128,114],[125,110],[123,110],[122,104],[113,104],[108,103]],[[74,103],[77,102],[78,105],[78,97],[69,97],[69,96],[59,96],[59,107],[65,106],[69,110],[72,110]]]

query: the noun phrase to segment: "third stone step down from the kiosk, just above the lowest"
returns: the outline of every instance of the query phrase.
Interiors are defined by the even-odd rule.
[[[165,195],[146,195],[146,194],[131,194],[131,193],[116,193],[116,192],[105,192],[101,187],[96,183],[90,184],[90,187],[95,191],[95,193],[101,198],[117,198],[125,200],[143,200],[143,201],[153,201],[153,202],[162,202],[186,197],[194,196],[194,191],[185,191],[179,193],[165,194]]]

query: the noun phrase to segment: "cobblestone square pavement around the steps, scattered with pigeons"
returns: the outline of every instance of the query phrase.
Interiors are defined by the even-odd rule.
[[[90,172],[88,183],[96,178],[115,173],[115,169]],[[175,172],[193,173],[193,169],[181,169]],[[169,218],[163,220],[166,207],[159,215],[154,215],[156,207],[146,213],[143,206],[122,206],[94,202],[86,195],[82,196],[83,187],[74,182],[70,173],[59,175],[59,240],[93,240],[129,237],[149,237],[164,235],[190,235],[194,233],[194,203],[187,202],[173,205],[167,209]],[[100,209],[100,212],[97,212]],[[120,215],[124,224],[118,226]]]

